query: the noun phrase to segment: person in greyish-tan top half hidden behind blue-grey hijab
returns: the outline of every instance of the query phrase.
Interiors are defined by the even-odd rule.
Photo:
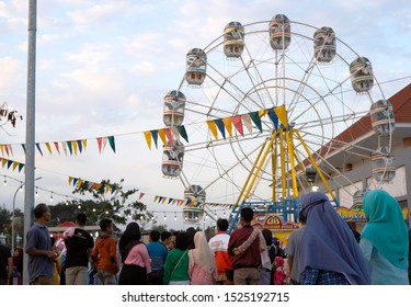
[[[293,285],[299,285],[299,242],[301,241],[301,236],[305,229],[305,224],[301,220],[299,221],[301,226],[289,235],[287,246],[285,247],[288,262],[289,282]]]

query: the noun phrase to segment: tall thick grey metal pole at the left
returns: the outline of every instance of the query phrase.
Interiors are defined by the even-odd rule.
[[[35,72],[37,1],[28,0],[27,103],[25,135],[24,236],[33,223],[34,145],[35,145]],[[23,285],[30,284],[28,255],[23,255]]]

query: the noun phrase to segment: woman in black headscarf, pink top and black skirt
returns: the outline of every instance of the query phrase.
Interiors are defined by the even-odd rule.
[[[119,285],[147,285],[147,274],[151,272],[151,262],[147,247],[140,241],[140,227],[136,221],[127,225],[118,241],[123,268]]]

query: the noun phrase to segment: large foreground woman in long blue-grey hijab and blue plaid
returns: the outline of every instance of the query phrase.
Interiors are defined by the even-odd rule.
[[[300,202],[299,218],[306,223],[296,255],[301,285],[369,284],[369,264],[327,195],[310,192]]]

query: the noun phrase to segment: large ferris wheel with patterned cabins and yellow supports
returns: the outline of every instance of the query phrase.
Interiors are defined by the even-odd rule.
[[[187,141],[164,146],[162,172],[182,181],[189,220],[205,203],[295,218],[298,195],[313,185],[340,205],[338,189],[354,184],[350,170],[364,160],[373,163],[367,184],[395,177],[392,106],[370,60],[331,27],[284,14],[230,22],[190,49],[163,122],[187,132]]]

